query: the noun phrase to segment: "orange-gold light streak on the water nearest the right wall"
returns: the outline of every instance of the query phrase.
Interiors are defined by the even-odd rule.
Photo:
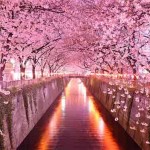
[[[101,114],[94,103],[93,97],[89,97],[89,118],[93,132],[99,136],[100,143],[106,150],[119,150],[117,142],[114,140],[110,129],[105,124]]]

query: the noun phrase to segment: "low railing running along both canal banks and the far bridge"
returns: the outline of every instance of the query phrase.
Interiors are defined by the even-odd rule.
[[[108,75],[97,75],[97,74],[91,74],[91,75],[84,75],[84,74],[53,74],[49,77],[43,77],[43,78],[37,78],[37,79],[30,79],[30,80],[15,80],[15,81],[0,81],[0,89],[6,89],[10,87],[22,87],[25,85],[30,85],[30,84],[35,84],[39,83],[42,80],[51,80],[57,77],[62,77],[62,76],[68,76],[68,77],[96,77],[99,78],[105,82],[116,82],[121,85],[128,85],[128,86],[133,86],[133,87],[139,87],[139,85],[142,85],[142,87],[150,87],[149,82],[145,82],[146,80],[143,79],[138,79],[138,80],[132,80],[131,78],[120,78],[120,77],[114,77],[114,76],[108,76]]]

